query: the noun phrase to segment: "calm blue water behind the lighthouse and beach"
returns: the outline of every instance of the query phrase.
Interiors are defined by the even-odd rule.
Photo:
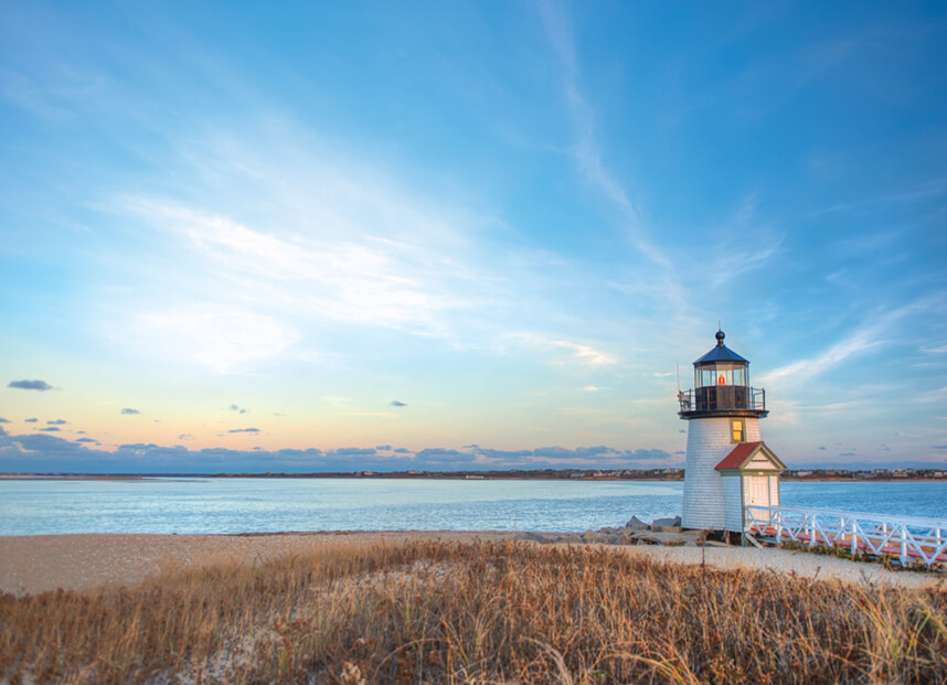
[[[681,511],[680,482],[157,479],[0,481],[0,535],[586,531]],[[787,505],[947,518],[947,483],[783,483]]]

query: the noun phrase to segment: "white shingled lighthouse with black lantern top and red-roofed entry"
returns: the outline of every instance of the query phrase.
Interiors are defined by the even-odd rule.
[[[694,362],[694,387],[678,393],[678,416],[688,421],[685,528],[743,532],[745,506],[777,506],[786,467],[763,442],[759,419],[766,390],[749,385],[749,362],[724,344]]]

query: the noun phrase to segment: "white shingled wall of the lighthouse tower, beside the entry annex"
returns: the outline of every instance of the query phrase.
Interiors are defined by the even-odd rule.
[[[759,440],[759,419],[744,418],[746,441]],[[688,421],[688,459],[684,467],[684,502],[681,525],[685,528],[724,529],[723,486],[714,467],[734,447],[730,418]],[[738,501],[738,496],[737,496]]]

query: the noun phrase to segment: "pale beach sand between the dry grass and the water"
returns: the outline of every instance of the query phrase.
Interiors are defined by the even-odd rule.
[[[0,590],[14,595],[56,588],[85,590],[131,586],[182,566],[240,560],[258,564],[287,555],[313,555],[333,547],[397,544],[407,539],[509,539],[500,532],[286,533],[273,535],[35,535],[0,536]],[[618,549],[613,547],[614,549]],[[809,578],[900,587],[947,584],[943,574],[886,570],[879,564],[787,549],[753,547],[620,547],[626,554],[719,568],[756,568]]]

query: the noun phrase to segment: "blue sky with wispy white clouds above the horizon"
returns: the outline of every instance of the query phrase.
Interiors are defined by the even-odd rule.
[[[947,465],[947,8],[0,0],[0,471]]]

